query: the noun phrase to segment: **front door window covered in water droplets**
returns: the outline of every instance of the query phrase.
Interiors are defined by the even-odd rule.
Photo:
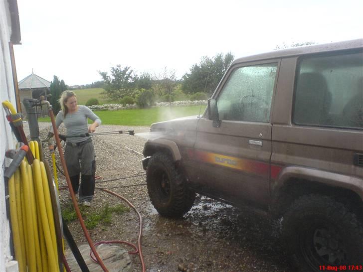
[[[269,122],[277,63],[234,69],[217,97],[221,120]]]

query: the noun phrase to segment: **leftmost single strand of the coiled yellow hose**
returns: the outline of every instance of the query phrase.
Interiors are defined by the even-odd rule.
[[[23,255],[23,250],[22,250],[23,247],[21,245],[20,233],[19,233],[20,227],[18,225],[18,220],[17,220],[14,175],[10,177],[8,187],[9,187],[10,221],[11,221],[12,237],[14,241],[14,250],[15,250],[16,260],[19,264],[19,271],[25,272],[26,262],[25,262],[25,256]]]

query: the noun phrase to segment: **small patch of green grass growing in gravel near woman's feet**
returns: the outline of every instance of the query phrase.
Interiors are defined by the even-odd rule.
[[[96,228],[100,223],[102,225],[110,225],[112,222],[112,214],[123,214],[124,212],[129,212],[130,208],[125,207],[122,204],[115,206],[104,206],[102,209],[96,210],[94,212],[88,212],[89,208],[80,206],[79,207],[82,217],[84,219],[84,224],[86,228],[92,230]],[[74,210],[72,203],[66,203],[62,206],[62,217],[66,223],[72,222],[77,219],[77,214]]]

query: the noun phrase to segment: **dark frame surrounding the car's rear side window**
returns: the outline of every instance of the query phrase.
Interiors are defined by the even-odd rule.
[[[292,111],[291,111],[291,124],[297,127],[313,127],[313,128],[328,128],[328,129],[340,129],[340,130],[354,130],[354,131],[362,131],[363,128],[356,127],[343,127],[343,126],[333,126],[333,125],[313,125],[313,124],[299,124],[295,122],[295,106],[296,106],[296,88],[297,82],[300,76],[300,67],[301,63],[305,59],[319,58],[319,57],[330,57],[330,56],[343,56],[349,54],[363,53],[362,48],[348,49],[348,50],[340,50],[333,52],[324,52],[324,53],[315,53],[315,54],[306,54],[301,55],[297,58],[295,76],[294,76],[294,90],[292,97]]]

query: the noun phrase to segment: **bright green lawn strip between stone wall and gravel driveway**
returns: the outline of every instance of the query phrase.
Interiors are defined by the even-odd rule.
[[[201,106],[202,114],[205,105]],[[121,111],[102,111],[95,114],[102,120],[104,125],[123,125],[123,126],[146,126],[151,124],[171,120],[175,118],[198,115],[200,106],[182,107],[158,107],[151,109],[132,109]],[[39,122],[50,122],[49,118],[39,118]],[[89,120],[89,123],[91,121]]]

